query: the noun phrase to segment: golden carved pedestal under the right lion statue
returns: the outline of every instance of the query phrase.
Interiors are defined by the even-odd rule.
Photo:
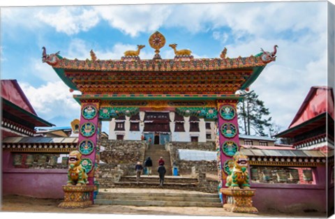
[[[223,204],[223,209],[234,213],[258,213],[258,209],[253,206],[251,197],[255,195],[254,189],[232,189],[221,188],[225,195],[227,204]]]

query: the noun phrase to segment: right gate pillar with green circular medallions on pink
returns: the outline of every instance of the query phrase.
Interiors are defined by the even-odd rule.
[[[222,169],[222,187],[234,166],[232,156],[239,151],[238,100],[218,100],[218,139]]]

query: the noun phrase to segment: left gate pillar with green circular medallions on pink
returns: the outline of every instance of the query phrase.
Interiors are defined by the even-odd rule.
[[[89,176],[89,186],[94,186],[94,169],[96,169],[96,156],[98,144],[98,135],[101,130],[98,112],[99,103],[96,100],[82,101],[82,110],[80,115],[80,135],[77,149],[82,153],[82,167],[85,168]]]

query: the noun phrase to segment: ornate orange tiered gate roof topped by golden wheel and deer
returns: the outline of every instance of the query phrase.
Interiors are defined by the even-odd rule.
[[[191,50],[176,50],[177,44],[170,44],[175,56],[161,59],[159,50],[165,45],[165,37],[158,31],[150,36],[149,45],[155,49],[153,59],[145,60],[140,59],[144,45],[137,45],[137,51],[124,52],[120,60],[100,60],[92,50],[91,59],[70,60],[59,52],[46,54],[43,47],[43,62],[50,64],[70,89],[82,92],[76,99],[153,99],[158,95],[165,99],[218,99],[247,89],[267,63],[276,60],[277,47],[274,52],[262,51],[255,56],[230,59],[224,49],[216,58],[194,59]]]

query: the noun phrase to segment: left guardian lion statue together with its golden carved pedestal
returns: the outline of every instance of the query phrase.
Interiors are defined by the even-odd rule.
[[[80,164],[82,154],[79,151],[71,151],[68,159],[68,181],[63,186],[64,202],[59,204],[61,208],[85,208],[93,204],[95,186],[86,186],[87,174]]]

